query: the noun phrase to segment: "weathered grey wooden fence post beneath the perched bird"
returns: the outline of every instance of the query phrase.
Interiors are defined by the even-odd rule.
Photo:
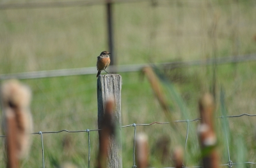
[[[102,120],[106,113],[106,104],[109,99],[114,102],[113,120],[116,123],[115,135],[120,134],[121,130],[121,88],[122,76],[120,74],[100,75],[97,80],[97,99],[98,99],[98,128],[102,129]],[[116,136],[110,136],[108,149],[107,167],[122,168],[122,144]]]

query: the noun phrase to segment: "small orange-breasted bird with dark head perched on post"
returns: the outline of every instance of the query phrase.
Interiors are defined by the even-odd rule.
[[[109,66],[110,64],[110,58],[109,58],[109,52],[104,51],[101,52],[100,55],[97,57],[97,76],[98,77],[100,75],[101,71],[105,71],[106,73],[108,73],[105,69]]]

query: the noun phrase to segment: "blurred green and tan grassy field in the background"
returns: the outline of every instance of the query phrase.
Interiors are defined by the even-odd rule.
[[[15,2],[15,1],[12,1]],[[32,2],[32,1],[29,1]],[[8,3],[8,2],[3,2]],[[255,1],[151,1],[114,6],[115,48],[118,65],[172,60],[196,60],[256,53]],[[102,50],[107,50],[105,6],[39,8],[0,11],[0,73],[21,73],[51,69],[92,67]],[[215,28],[214,28],[215,27]],[[170,71],[170,79],[189,109],[198,118],[198,97],[212,88],[212,66],[186,67]],[[97,79],[95,75],[22,80],[33,90],[31,112],[34,131],[97,129]],[[225,90],[228,115],[256,114],[256,62],[217,67],[217,111],[220,88]],[[140,72],[121,73],[122,125],[167,122],[147,78]],[[180,109],[166,92],[173,115]],[[221,119],[216,120],[221,164],[228,162],[227,144]],[[233,162],[256,162],[255,117],[229,118],[230,158]],[[156,153],[160,136],[170,137],[174,146],[184,147],[187,123],[138,126],[149,137],[150,165],[163,167]],[[200,165],[196,136],[197,122],[189,123],[186,165]],[[68,133],[44,134],[45,165],[52,158],[88,165],[88,134],[69,133],[74,149],[67,155],[62,139]],[[131,167],[133,127],[122,129],[123,167]],[[96,159],[98,133],[91,132],[91,167]],[[3,139],[1,139],[3,141]],[[237,145],[239,144],[239,145]],[[241,151],[240,146],[243,148]],[[3,145],[1,146],[3,151]],[[1,152],[3,153],[3,152]],[[239,153],[244,153],[243,157]],[[245,160],[243,160],[245,158]],[[4,167],[0,154],[0,167]],[[42,167],[40,135],[33,135],[31,155],[22,167]]]

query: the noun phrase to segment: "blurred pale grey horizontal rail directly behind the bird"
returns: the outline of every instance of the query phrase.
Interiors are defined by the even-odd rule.
[[[166,62],[162,64],[131,64],[121,66],[109,66],[109,71],[117,69],[118,73],[136,72],[141,71],[143,67],[147,66],[164,66],[165,68],[178,68],[188,66],[211,66],[212,64],[230,64],[235,62],[248,62],[256,60],[256,53],[240,56],[221,57],[218,59],[204,59],[204,60],[189,60],[189,61],[177,61],[177,62]],[[8,79],[36,79],[36,78],[50,78],[60,76],[74,76],[74,75],[85,75],[85,74],[96,74],[96,67],[82,67],[73,69],[57,69],[50,71],[32,71],[26,73],[15,73],[15,74],[0,74],[0,80]]]

